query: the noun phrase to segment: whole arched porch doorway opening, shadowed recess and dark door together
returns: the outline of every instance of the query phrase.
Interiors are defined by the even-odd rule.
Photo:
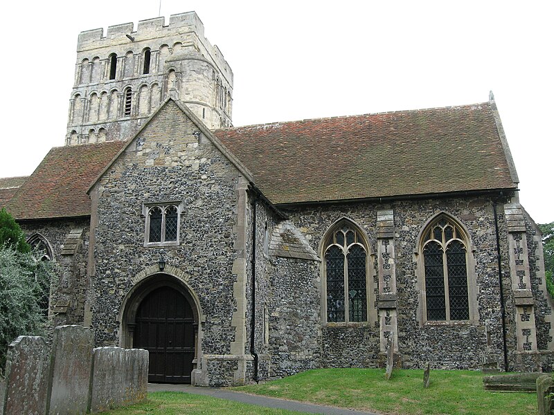
[[[169,275],[155,275],[134,291],[125,311],[123,342],[148,350],[148,382],[190,383],[198,313],[186,288]]]

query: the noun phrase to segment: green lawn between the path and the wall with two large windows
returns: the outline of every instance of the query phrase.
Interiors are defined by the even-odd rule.
[[[485,392],[483,376],[479,371],[431,370],[425,389],[422,370],[395,370],[386,381],[384,369],[317,369],[233,389],[382,414],[537,413],[536,394]]]

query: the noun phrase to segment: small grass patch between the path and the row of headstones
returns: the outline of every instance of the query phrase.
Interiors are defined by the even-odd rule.
[[[183,415],[183,414],[229,414],[229,415],[298,415],[298,412],[283,409],[262,408],[245,403],[232,402],[210,396],[184,394],[183,392],[152,392],[148,402],[112,409],[104,415]]]

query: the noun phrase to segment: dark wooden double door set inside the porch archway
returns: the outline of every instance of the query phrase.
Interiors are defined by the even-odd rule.
[[[193,309],[179,291],[157,288],[136,312],[133,347],[150,353],[148,382],[190,383],[195,358]]]

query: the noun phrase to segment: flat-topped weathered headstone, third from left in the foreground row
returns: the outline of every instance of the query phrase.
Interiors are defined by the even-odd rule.
[[[125,349],[98,347],[93,350],[90,412],[123,405],[127,360]]]

